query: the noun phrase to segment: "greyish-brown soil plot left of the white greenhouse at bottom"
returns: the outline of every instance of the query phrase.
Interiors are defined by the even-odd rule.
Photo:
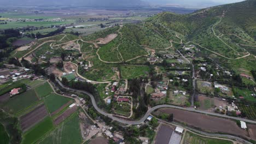
[[[162,124],[158,130],[158,134],[155,137],[155,144],[168,144],[173,130],[174,129],[170,126]]]

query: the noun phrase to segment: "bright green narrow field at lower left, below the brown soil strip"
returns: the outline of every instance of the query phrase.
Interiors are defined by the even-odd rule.
[[[42,122],[35,125],[31,130],[26,131],[24,139],[21,143],[35,143],[46,134],[49,130],[53,129],[53,121],[50,117],[46,117]]]

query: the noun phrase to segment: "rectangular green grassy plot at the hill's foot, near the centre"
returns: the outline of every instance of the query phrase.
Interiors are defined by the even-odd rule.
[[[148,65],[121,65],[120,69],[123,79],[145,76],[149,72]]]

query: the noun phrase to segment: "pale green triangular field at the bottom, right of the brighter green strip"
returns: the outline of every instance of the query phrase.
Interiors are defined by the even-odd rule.
[[[52,131],[50,135],[48,135],[40,143],[79,144],[81,142],[82,136],[80,132],[79,118],[78,113],[75,112],[71,117],[69,117],[64,123],[61,123],[59,127]]]

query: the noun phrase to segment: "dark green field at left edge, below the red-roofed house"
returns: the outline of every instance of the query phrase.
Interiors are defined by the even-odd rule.
[[[38,98],[36,93],[31,89],[25,93],[15,95],[13,98],[10,98],[6,103],[1,105],[1,107],[9,113],[18,113],[35,103],[37,100]]]

